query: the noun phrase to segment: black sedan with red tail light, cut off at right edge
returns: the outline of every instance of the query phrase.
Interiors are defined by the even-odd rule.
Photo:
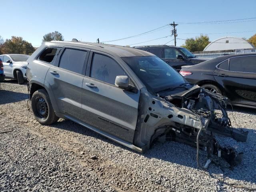
[[[231,104],[256,108],[256,54],[217,57],[180,70],[186,80],[225,95]]]

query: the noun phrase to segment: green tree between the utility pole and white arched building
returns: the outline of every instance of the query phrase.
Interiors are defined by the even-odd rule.
[[[201,34],[195,38],[188,38],[182,47],[187,48],[191,52],[203,51],[204,48],[210,43],[208,35]]]

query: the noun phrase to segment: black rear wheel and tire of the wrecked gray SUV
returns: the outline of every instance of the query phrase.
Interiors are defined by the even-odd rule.
[[[50,97],[45,89],[39,89],[32,95],[31,106],[36,120],[42,125],[53,124],[58,121],[54,113]]]

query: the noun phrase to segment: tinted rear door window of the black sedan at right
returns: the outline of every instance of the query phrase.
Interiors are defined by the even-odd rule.
[[[256,56],[231,58],[229,63],[229,70],[256,73]]]

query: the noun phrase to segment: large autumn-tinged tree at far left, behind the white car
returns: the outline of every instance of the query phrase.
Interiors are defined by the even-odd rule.
[[[22,37],[12,36],[11,39],[6,39],[1,46],[3,54],[32,54],[35,48],[31,43],[23,40]]]

